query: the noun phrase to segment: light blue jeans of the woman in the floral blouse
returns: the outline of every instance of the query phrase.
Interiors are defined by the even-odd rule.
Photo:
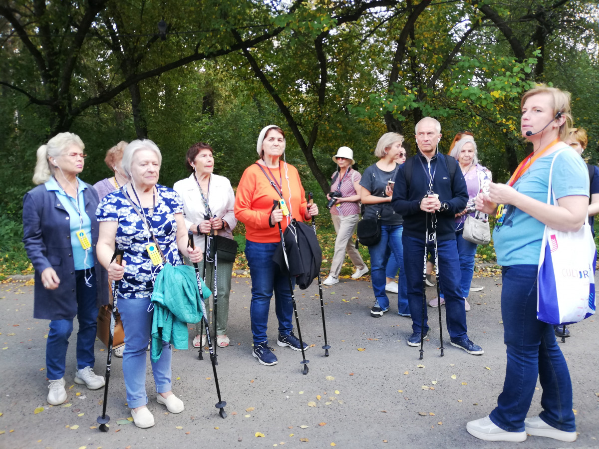
[[[120,317],[125,330],[125,349],[123,350],[123,379],[127,390],[129,408],[146,405],[146,365],[147,347],[152,333],[153,304],[150,296],[145,298],[119,298],[117,302]],[[171,345],[162,342],[162,354],[158,362],[152,362],[152,374],[156,392],[171,391]]]

